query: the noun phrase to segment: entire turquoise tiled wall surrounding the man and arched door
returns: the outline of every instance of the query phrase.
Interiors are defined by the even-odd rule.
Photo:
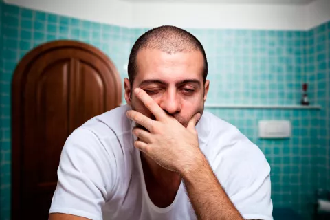
[[[107,54],[126,77],[131,46],[146,29],[104,25],[55,14],[3,5],[3,72],[1,82],[1,219],[10,217],[10,80],[19,60],[33,47],[55,39],[90,43]],[[330,109],[329,85],[318,79],[324,67],[323,36],[327,35],[329,84],[329,23],[326,29],[309,32],[265,30],[189,30],[206,48],[211,81],[208,103],[217,104],[299,104],[301,84],[309,83],[311,104]],[[320,29],[320,30],[319,30]],[[320,40],[320,46],[318,42]],[[326,45],[326,43],[325,43]],[[1,47],[0,47],[1,48]],[[320,53],[318,53],[320,51]],[[320,55],[321,54],[321,55]],[[320,63],[317,59],[320,59]],[[324,86],[327,91],[320,92]],[[323,91],[322,90],[322,91]],[[321,94],[320,94],[321,93]],[[327,105],[328,103],[328,105]],[[314,190],[329,186],[329,111],[278,109],[208,109],[237,126],[265,153],[272,166],[272,199],[275,207],[294,208],[310,219]],[[292,121],[293,137],[260,140],[258,121]],[[323,122],[325,121],[325,122]],[[322,139],[320,139],[322,137]],[[323,138],[324,137],[324,138]],[[328,139],[327,139],[328,138]],[[320,140],[323,140],[321,143]],[[324,156],[327,155],[327,156]],[[322,183],[322,184],[321,184]]]

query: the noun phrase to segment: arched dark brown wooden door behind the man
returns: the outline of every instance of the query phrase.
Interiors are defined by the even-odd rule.
[[[12,219],[47,219],[65,140],[121,98],[115,66],[91,45],[54,41],[23,58],[12,80]]]

